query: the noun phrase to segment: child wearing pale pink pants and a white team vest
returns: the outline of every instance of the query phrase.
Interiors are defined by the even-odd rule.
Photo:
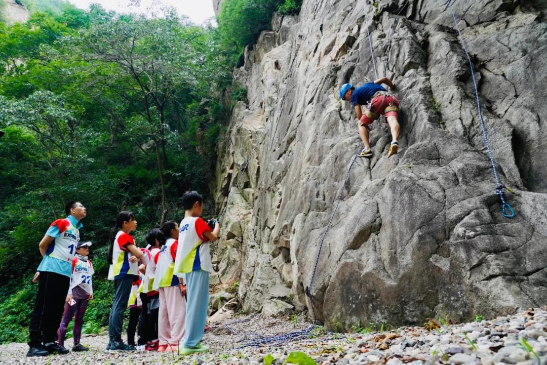
[[[158,351],[170,348],[177,351],[184,335],[184,319],[186,316],[186,288],[183,278],[173,275],[174,260],[178,246],[178,225],[175,221],[167,221],[161,228],[167,242],[161,248],[156,263],[154,290],[160,292],[160,313],[158,318]]]

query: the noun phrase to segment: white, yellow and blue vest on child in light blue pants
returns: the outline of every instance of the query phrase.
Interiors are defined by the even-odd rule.
[[[196,270],[212,272],[209,244],[203,237],[203,233],[211,231],[211,228],[200,217],[184,218],[179,227],[174,274],[183,276]]]

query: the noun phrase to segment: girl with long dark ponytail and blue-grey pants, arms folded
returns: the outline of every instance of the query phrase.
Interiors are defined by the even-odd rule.
[[[108,248],[108,280],[114,280],[114,299],[108,319],[109,343],[107,351],[133,351],[135,348],[121,340],[124,311],[131,294],[133,281],[138,279],[138,261],[143,252],[135,245],[129,233],[137,229],[137,220],[130,211],[120,211],[110,233]]]

